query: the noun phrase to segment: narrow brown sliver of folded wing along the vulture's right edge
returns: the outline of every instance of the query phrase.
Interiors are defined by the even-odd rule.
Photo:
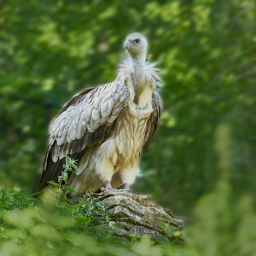
[[[154,133],[157,130],[160,122],[160,115],[163,109],[163,104],[157,91],[154,91],[152,95],[152,108],[154,109],[154,111],[148,119],[147,130],[145,132],[145,146],[148,145],[150,138],[154,136]]]

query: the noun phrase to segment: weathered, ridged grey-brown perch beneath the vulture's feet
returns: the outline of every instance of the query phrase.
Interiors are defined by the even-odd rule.
[[[149,195],[135,195],[124,190],[111,190],[92,195],[108,210],[109,229],[115,236],[130,239],[148,235],[157,242],[183,242],[180,230],[183,219],[150,201]]]

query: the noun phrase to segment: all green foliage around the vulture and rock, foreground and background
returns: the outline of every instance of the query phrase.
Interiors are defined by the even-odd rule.
[[[128,243],[104,231],[92,201],[0,189],[0,255],[256,254],[255,1],[9,0],[0,27],[0,184],[30,190],[49,120],[78,90],[113,80],[126,34],[139,31],[165,111],[134,189],[190,217],[183,247]]]

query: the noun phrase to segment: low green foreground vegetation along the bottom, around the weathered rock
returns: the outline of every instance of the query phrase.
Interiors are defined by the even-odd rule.
[[[148,236],[113,236],[108,211],[90,193],[71,204],[74,199],[60,197],[58,190],[39,201],[1,188],[0,255],[254,256],[253,198],[235,198],[226,174],[195,206],[182,246],[156,244]]]

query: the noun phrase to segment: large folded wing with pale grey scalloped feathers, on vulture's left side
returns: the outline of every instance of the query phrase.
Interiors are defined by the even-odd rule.
[[[119,81],[88,88],[73,96],[49,125],[44,171],[36,190],[43,189],[49,180],[57,181],[66,155],[79,160],[86,148],[104,142],[128,99],[129,90]]]

